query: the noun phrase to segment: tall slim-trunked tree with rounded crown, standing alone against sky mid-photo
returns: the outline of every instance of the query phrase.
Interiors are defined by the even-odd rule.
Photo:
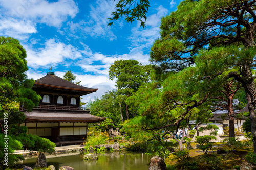
[[[148,81],[146,68],[137,60],[117,60],[111,65],[109,75],[111,80],[116,79],[121,118],[121,103],[125,102],[126,118],[129,119],[129,104],[126,100],[137,91],[143,82]]]

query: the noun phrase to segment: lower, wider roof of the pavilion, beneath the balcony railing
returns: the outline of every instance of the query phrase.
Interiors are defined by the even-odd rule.
[[[26,122],[100,122],[105,117],[98,117],[88,113],[67,112],[24,112]]]

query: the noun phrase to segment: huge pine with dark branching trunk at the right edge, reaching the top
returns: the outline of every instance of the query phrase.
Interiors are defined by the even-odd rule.
[[[251,130],[256,130],[254,108],[256,90],[251,69],[255,65],[255,1],[182,1],[177,11],[162,18],[161,37],[155,41],[151,61],[158,63],[163,73],[180,71],[197,64],[196,56],[216,57],[225,67],[238,66],[226,79],[233,77],[241,82],[249,106]],[[220,49],[225,47],[225,53]],[[230,60],[224,57],[230,55]],[[219,74],[223,71],[220,68]],[[218,73],[218,72],[217,72]],[[254,152],[256,137],[254,136]]]

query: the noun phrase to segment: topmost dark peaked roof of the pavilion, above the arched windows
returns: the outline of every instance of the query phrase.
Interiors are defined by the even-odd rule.
[[[45,77],[35,80],[34,86],[45,86],[58,89],[76,90],[81,92],[87,91],[87,93],[92,93],[98,90],[95,88],[83,87],[70,81],[64,80],[54,75],[53,72],[49,72]]]

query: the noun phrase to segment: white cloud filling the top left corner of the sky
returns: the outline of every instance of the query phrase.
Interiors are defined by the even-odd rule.
[[[51,3],[46,0],[2,0],[0,6],[5,11],[4,16],[11,16],[17,20],[28,19],[55,27],[61,26],[68,16],[73,18],[78,13],[77,4],[73,0]]]

